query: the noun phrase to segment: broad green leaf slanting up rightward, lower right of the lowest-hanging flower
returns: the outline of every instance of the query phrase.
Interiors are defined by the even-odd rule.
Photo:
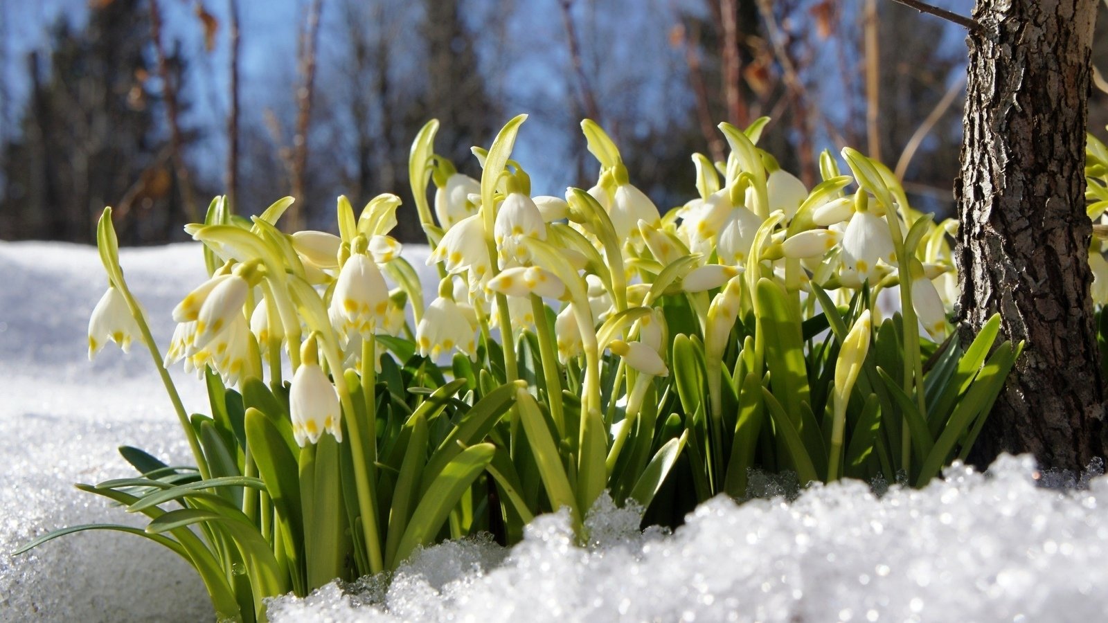
[[[492,461],[494,452],[495,447],[492,443],[470,446],[451,459],[450,463],[435,476],[434,481],[420,498],[419,505],[412,512],[412,520],[400,538],[394,559],[397,563],[411,555],[417,547],[431,542],[442,528],[450,510],[458,504],[462,494]]]

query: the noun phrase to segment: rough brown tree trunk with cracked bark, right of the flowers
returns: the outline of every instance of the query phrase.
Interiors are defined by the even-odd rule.
[[[964,337],[999,312],[1026,346],[972,455],[1102,456],[1085,124],[1097,0],[978,0],[955,184]]]

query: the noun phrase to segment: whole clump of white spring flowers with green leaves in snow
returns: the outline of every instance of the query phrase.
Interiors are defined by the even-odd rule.
[[[79,487],[145,530],[28,549],[133,532],[195,566],[219,617],[254,621],[266,596],[442,539],[511,543],[543,512],[586,539],[605,491],[674,524],[742,498],[751,468],[923,484],[965,457],[1019,347],[994,344],[996,318],[968,345],[951,331],[955,224],[912,210],[888,168],[824,153],[809,190],[756,146],[766,120],[724,123],[727,161],[694,154],[698,196],[659,213],[586,120],[596,184],[532,196],[511,160],[524,119],[474,149],[480,180],[434,153],[437,122],[417,136],[431,302],[389,236],[396,195],[357,214],[340,197],[338,235],[280,232],[288,198],[249,221],[216,198],[187,227],[211,277],[163,359],[105,210],[90,356],[148,348],[196,466],[123,448],[138,477]],[[178,362],[209,416],[185,412]]]

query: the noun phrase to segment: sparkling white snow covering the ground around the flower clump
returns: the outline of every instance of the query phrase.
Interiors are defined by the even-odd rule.
[[[124,249],[122,262],[165,344],[170,309],[204,278],[198,248]],[[88,314],[105,286],[94,249],[0,243],[0,621],[209,620],[191,568],[130,534],[85,532],[9,555],[53,528],[134,519],[71,487],[131,473],[116,446],[177,462],[188,452],[141,347],[123,356],[109,346],[88,361]],[[186,408],[206,411],[201,385],[174,377]],[[1044,481],[1066,483],[1002,457],[987,474],[951,468],[922,491],[880,498],[843,482],[792,501],[715,499],[673,534],[639,532],[634,511],[602,499],[586,548],[564,514],[541,517],[511,550],[481,539],[429,548],[391,579],[273,600],[270,617],[1100,620],[1108,479],[1067,490]]]

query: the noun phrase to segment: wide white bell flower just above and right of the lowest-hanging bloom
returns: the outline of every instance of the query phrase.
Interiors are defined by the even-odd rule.
[[[352,253],[339,269],[329,308],[340,333],[359,333],[365,338],[384,323],[389,310],[389,288],[381,269],[366,255],[368,243],[362,235],[355,238]]]

